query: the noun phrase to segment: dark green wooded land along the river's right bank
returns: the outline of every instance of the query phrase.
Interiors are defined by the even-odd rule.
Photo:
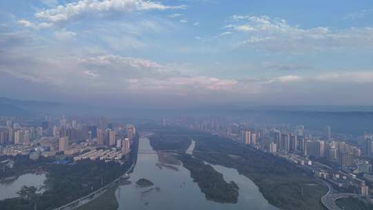
[[[321,197],[327,187],[295,164],[209,133],[179,127],[157,128],[153,133],[149,139],[155,150],[187,150],[193,138],[195,150],[212,152],[193,153],[195,158],[237,169],[258,186],[269,204],[279,209],[323,209]]]

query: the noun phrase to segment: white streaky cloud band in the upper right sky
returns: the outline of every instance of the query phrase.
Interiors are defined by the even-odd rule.
[[[270,52],[309,53],[343,48],[373,49],[373,28],[300,28],[268,16],[232,16],[224,26],[240,33],[236,46]]]

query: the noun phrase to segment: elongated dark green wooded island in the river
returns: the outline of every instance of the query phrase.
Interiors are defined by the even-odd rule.
[[[191,171],[193,182],[198,183],[202,193],[207,200],[220,203],[238,202],[238,185],[234,182],[225,182],[223,175],[213,169],[209,164],[204,164],[202,160],[193,158],[191,155],[180,155],[183,166]]]

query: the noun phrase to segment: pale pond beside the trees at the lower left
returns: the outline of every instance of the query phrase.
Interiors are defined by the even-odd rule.
[[[45,174],[27,173],[20,175],[19,178],[15,180],[2,182],[0,183],[0,200],[18,197],[17,191],[19,191],[23,185],[28,187],[33,186],[40,189],[45,180]]]

